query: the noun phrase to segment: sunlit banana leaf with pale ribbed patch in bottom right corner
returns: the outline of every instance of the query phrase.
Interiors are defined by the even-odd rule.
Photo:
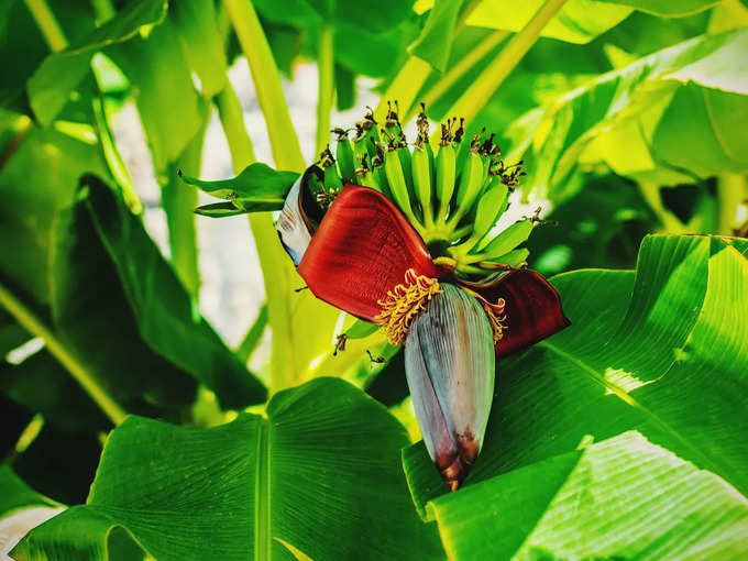
[[[499,475],[429,507],[451,559],[748,554],[745,497],[636,431]]]

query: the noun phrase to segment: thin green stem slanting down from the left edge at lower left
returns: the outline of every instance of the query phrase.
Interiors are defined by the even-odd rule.
[[[99,385],[96,378],[86,367],[63,346],[57,338],[44,326],[34,314],[26,308],[10,290],[0,285],[0,305],[15,318],[15,320],[32,336],[44,340],[46,350],[52,354],[70,375],[80,384],[86,393],[111,419],[114,425],[120,425],[128,413]]]

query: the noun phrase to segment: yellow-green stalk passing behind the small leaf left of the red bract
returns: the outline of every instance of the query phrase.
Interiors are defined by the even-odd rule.
[[[254,151],[244,125],[239,99],[228,79],[223,91],[216,98],[216,105],[229,142],[234,172],[240,173],[254,162]],[[297,373],[301,372],[300,365],[295,362],[294,353],[289,352],[289,349],[294,349],[295,342],[290,295],[294,288],[298,288],[295,286],[297,277],[290,260],[278,243],[272,216],[268,212],[250,215],[250,227],[265,284],[267,322],[273,333],[270,389],[276,392],[288,386]]]

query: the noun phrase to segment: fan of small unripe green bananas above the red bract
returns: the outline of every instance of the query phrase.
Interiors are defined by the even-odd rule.
[[[409,145],[399,121],[397,102],[382,127],[371,109],[351,130],[334,129],[336,156],[326,148],[318,165],[323,180],[315,189],[323,207],[343,185],[371,187],[392,200],[421,235],[441,266],[465,277],[487,276],[517,267],[528,256],[525,242],[534,224],[530,217],[492,234],[507,210],[509,194],[525,175],[521,162],[505,165],[494,134],[485,129],[464,138],[464,120],[441,123],[438,146],[429,142],[426,107],[417,117],[417,138]],[[465,144],[465,154],[460,153]]]

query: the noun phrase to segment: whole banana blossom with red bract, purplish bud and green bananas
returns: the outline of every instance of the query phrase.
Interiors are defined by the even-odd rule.
[[[493,134],[468,139],[453,117],[432,146],[422,105],[416,125],[409,145],[391,103],[383,123],[369,109],[333,130],[334,151],[288,182],[277,230],[315,296],[405,345],[426,447],[454,491],[483,443],[496,359],[569,320],[553,286],[526,267],[521,244],[537,220],[493,230],[521,162],[505,164]]]

